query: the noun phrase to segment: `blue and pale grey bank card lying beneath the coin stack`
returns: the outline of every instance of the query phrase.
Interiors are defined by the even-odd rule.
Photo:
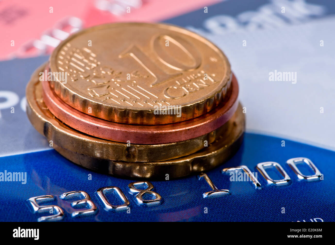
[[[231,159],[202,177],[138,185],[146,199],[159,194],[155,205],[141,204],[130,192],[135,180],[68,161],[30,124],[25,86],[48,57],[1,62],[0,220],[335,221],[334,4],[241,3],[166,20],[225,52],[239,80],[247,133]],[[280,73],[292,76],[283,81]],[[105,187],[116,187],[105,197],[119,211],[98,194]]]

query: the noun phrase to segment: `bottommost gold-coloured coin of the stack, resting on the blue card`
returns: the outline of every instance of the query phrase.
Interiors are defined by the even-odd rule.
[[[183,177],[192,173],[210,170],[227,161],[242,144],[245,129],[245,115],[239,105],[236,113],[227,122],[228,129],[208,147],[177,159],[160,162],[125,162],[102,160],[77,154],[54,145],[61,155],[70,161],[94,171],[117,175],[123,178],[165,179]]]

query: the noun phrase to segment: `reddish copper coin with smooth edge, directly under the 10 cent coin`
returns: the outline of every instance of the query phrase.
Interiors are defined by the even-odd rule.
[[[239,92],[236,77],[233,76],[229,99],[205,115],[166,125],[130,125],[84,114],[63,102],[50,88],[48,81],[43,81],[42,87],[48,109],[71,128],[94,137],[134,144],[166,144],[207,134],[222,126],[235,113]]]

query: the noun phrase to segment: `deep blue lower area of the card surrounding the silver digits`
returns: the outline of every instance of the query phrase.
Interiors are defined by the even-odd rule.
[[[286,160],[292,157],[311,159],[324,174],[324,179],[311,182],[298,180],[286,164]],[[128,184],[134,180],[91,172],[68,161],[55,150],[7,156],[0,158],[1,169],[26,172],[27,178],[25,184],[0,183],[0,220],[37,221],[41,216],[50,215],[49,212],[34,214],[26,200],[35,196],[53,195],[55,201],[41,205],[61,207],[65,213],[62,221],[335,221],[334,159],[333,151],[288,140],[282,147],[279,138],[247,133],[244,144],[235,156],[224,165],[207,172],[214,185],[218,189],[229,190],[230,195],[203,198],[203,193],[211,191],[211,188],[204,179],[199,180],[193,175],[151,181],[153,191],[162,197],[162,204],[144,207],[137,205],[134,196],[128,193]],[[280,187],[268,185],[256,170],[257,163],[265,161],[278,162],[289,175],[289,184]],[[252,172],[258,172],[260,188],[256,189],[251,181],[230,181],[230,175],[221,172],[224,167],[239,165],[246,165]],[[306,166],[297,166],[308,174]],[[89,174],[92,174],[91,180]],[[275,171],[272,174],[275,176]],[[130,201],[129,210],[104,210],[105,206],[96,191],[108,186],[121,189]],[[59,198],[69,191],[86,192],[97,206],[97,213],[86,218],[71,217],[71,213],[78,209],[72,208],[70,202],[80,198],[70,199],[70,202]],[[114,205],[120,204],[114,195],[108,199]]]

